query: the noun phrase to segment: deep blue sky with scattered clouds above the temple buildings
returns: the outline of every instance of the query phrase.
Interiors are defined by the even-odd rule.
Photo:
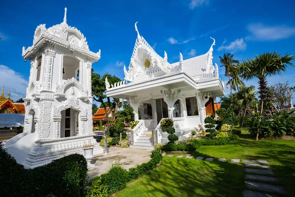
[[[123,78],[128,67],[138,30],[155,51],[168,61],[206,53],[216,40],[213,63],[225,52],[241,61],[256,54],[278,51],[295,54],[295,3],[292,0],[87,0],[87,1],[3,1],[0,23],[0,84],[5,95],[25,97],[29,80],[29,62],[21,56],[22,47],[32,45],[36,27],[49,28],[63,20],[67,7],[67,24],[87,37],[89,49],[101,49],[101,59],[92,67],[95,72],[108,71]],[[220,78],[226,83],[224,69]],[[289,80],[295,85],[295,67],[270,83]],[[246,82],[256,85],[257,80]],[[229,93],[229,89],[226,91]]]

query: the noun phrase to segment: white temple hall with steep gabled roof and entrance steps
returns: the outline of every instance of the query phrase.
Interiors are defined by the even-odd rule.
[[[109,84],[108,97],[126,99],[134,110],[135,120],[141,120],[134,128],[134,148],[152,148],[151,130],[157,130],[159,143],[168,141],[162,132],[162,118],[172,118],[179,139],[188,136],[199,124],[204,126],[207,116],[206,103],[225,95],[224,84],[218,76],[218,66],[212,64],[215,40],[204,55],[170,64],[167,53],[158,55],[140,35],[135,23],[137,39],[128,70],[124,66],[125,80]]]

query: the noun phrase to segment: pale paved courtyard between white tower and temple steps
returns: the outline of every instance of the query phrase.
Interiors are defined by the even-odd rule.
[[[147,163],[150,160],[152,150],[135,148],[110,147],[108,154],[95,155],[91,164],[94,167],[88,171],[89,179],[106,173],[113,163],[119,160],[124,169],[129,169],[137,165]]]

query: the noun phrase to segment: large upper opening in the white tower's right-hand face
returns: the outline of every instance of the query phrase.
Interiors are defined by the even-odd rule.
[[[71,78],[79,80],[79,65],[80,61],[71,56],[64,56],[63,57],[63,64],[62,64],[62,79],[67,80]]]

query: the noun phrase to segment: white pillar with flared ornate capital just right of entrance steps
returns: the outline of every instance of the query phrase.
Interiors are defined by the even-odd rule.
[[[180,89],[176,92],[175,90],[161,90],[161,95],[163,96],[164,101],[167,103],[168,106],[168,117],[173,118],[173,111],[174,111],[174,103],[180,97]]]

